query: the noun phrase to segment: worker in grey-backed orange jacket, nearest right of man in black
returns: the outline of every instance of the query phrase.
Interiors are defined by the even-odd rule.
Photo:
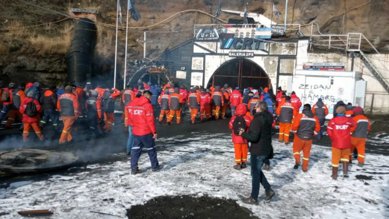
[[[293,156],[296,160],[294,169],[300,166],[300,151],[303,151],[303,171],[308,171],[309,155],[312,147],[312,138],[320,131],[319,119],[311,111],[311,105],[304,105],[292,124],[292,131],[296,133],[293,139]]]

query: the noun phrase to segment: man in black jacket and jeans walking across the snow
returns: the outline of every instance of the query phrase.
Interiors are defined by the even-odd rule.
[[[247,204],[258,204],[259,186],[265,188],[266,200],[271,199],[275,192],[270,188],[265,175],[261,168],[265,160],[269,157],[272,151],[271,145],[271,124],[273,116],[267,111],[267,104],[264,101],[259,101],[255,105],[254,119],[251,120],[248,128],[248,133],[244,130],[239,131],[242,138],[250,141],[250,164],[251,164],[251,195],[242,201]]]

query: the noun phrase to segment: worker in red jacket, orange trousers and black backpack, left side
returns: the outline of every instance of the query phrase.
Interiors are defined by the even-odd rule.
[[[34,129],[36,136],[38,136],[40,140],[43,140],[42,131],[39,127],[40,113],[42,113],[42,109],[39,102],[33,99],[33,97],[34,93],[28,92],[27,97],[23,99],[19,108],[20,113],[23,114],[23,142],[27,141],[28,133],[31,127]]]

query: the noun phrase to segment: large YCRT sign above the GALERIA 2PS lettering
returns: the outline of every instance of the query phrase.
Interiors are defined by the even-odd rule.
[[[252,38],[220,38],[220,49],[264,50],[265,43]]]

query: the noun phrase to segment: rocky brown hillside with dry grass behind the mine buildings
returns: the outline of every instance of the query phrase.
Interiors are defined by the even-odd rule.
[[[65,83],[66,51],[69,48],[75,19],[66,19],[60,13],[70,8],[97,9],[96,22],[116,24],[116,0],[30,0],[32,6],[21,0],[7,0],[0,4],[0,78],[18,82],[40,80],[44,84]],[[133,0],[142,18],[135,22],[130,18],[128,59],[143,58],[143,31],[149,31],[148,57],[157,58],[166,48],[178,45],[193,37],[194,24],[209,24],[212,18],[204,13],[186,11],[158,25],[165,18],[180,11],[198,9],[211,14],[216,11],[218,0]],[[282,15],[272,16],[271,0],[246,0],[247,11],[263,13],[278,23],[283,23],[285,1],[274,0]],[[126,0],[122,0],[123,20],[126,20]],[[222,9],[241,10],[244,0],[221,0]],[[57,13],[54,13],[56,11]],[[288,23],[318,23],[325,33],[362,32],[381,51],[389,50],[389,1],[384,0],[289,0]],[[219,18],[241,19],[239,16],[221,12]],[[125,23],[123,24],[125,25]],[[139,27],[139,28],[136,28]],[[317,33],[317,29],[314,28]],[[309,35],[310,28],[303,29]],[[294,34],[288,37],[296,37]],[[94,73],[111,74],[115,52],[115,28],[97,26],[97,46],[94,57]],[[125,31],[118,34],[118,65],[124,63]],[[118,70],[123,72],[123,67]]]

